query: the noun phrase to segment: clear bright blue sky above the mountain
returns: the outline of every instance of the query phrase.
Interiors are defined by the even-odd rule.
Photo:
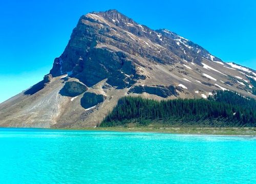
[[[1,0],[0,102],[49,73],[81,15],[108,9],[152,29],[174,31],[223,61],[256,69],[254,0]]]

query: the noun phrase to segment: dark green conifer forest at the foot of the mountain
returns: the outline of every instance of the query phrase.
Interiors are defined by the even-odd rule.
[[[101,127],[255,127],[256,102],[231,91],[217,91],[212,98],[155,101],[123,97]]]

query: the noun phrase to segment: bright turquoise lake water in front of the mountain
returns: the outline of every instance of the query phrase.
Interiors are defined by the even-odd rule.
[[[256,138],[0,128],[0,183],[256,183]]]

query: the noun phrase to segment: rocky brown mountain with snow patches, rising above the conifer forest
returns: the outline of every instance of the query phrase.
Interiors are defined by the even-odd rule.
[[[92,12],[80,17],[44,80],[0,104],[0,126],[94,127],[124,96],[207,98],[227,89],[255,98],[255,83],[251,68],[176,33],[116,10]]]

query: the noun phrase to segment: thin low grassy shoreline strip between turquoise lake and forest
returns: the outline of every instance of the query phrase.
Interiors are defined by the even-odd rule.
[[[116,132],[152,132],[194,135],[230,135],[230,136],[256,136],[256,127],[229,127],[229,128],[196,128],[196,127],[88,127],[88,128],[33,128],[33,127],[0,127],[42,130],[74,130],[74,131],[116,131]]]

